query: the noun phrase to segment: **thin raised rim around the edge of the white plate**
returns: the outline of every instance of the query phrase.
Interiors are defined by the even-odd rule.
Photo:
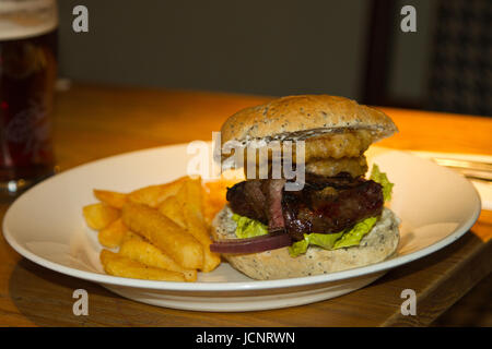
[[[107,161],[107,160],[114,160],[118,157],[126,157],[126,156],[136,156],[141,155],[144,153],[150,152],[160,152],[165,148],[180,148],[186,147],[188,143],[181,143],[181,144],[173,144],[173,145],[164,145],[159,147],[151,147],[151,148],[144,148],[144,149],[138,149],[132,152],[127,152],[122,154],[117,154],[113,156],[108,156],[105,158],[96,159],[90,163],[81,164],[79,166],[75,166],[73,168],[70,168],[59,174],[56,174],[54,177],[50,177],[46,179],[45,181],[42,181],[24,192],[21,196],[19,196],[8,208],[5,212],[5,215],[3,217],[2,222],[2,231],[3,237],[7,240],[7,242],[11,245],[13,250],[15,250],[20,255],[23,257],[30,260],[31,262],[34,262],[40,266],[44,266],[48,269],[51,269],[54,272],[58,272],[71,277],[81,278],[89,281],[99,282],[99,284],[107,284],[107,285],[114,285],[114,286],[121,286],[121,287],[131,287],[131,288],[141,288],[141,289],[152,289],[152,290],[163,290],[163,291],[183,291],[183,292],[199,292],[199,291],[223,291],[223,292],[233,292],[233,291],[245,291],[245,290],[266,290],[266,289],[282,289],[282,288],[293,288],[293,287],[303,287],[303,286],[309,286],[309,285],[317,285],[317,284],[325,284],[325,282],[332,282],[332,281],[339,281],[339,280],[345,280],[350,278],[354,278],[358,276],[363,275],[370,275],[378,272],[388,270],[395,267],[398,267],[400,265],[413,262],[415,260],[419,260],[421,257],[424,257],[426,255],[430,255],[448,244],[453,243],[454,241],[461,238],[477,221],[480,212],[481,212],[481,201],[480,196],[475,189],[475,186],[465,178],[460,177],[459,174],[453,172],[452,170],[447,168],[442,168],[444,170],[449,171],[453,173],[453,176],[457,176],[459,180],[462,180],[466,185],[469,186],[469,189],[473,192],[475,196],[475,207],[473,207],[473,214],[468,217],[468,219],[455,231],[453,231],[449,236],[447,236],[444,239],[438,240],[437,242],[411,252],[407,255],[398,256],[396,258],[385,260],[383,262],[370,264],[366,266],[361,266],[356,268],[351,268],[347,270],[336,272],[336,273],[328,273],[323,275],[315,275],[315,276],[305,276],[305,277],[297,277],[297,278],[285,278],[285,279],[274,279],[274,280],[248,280],[248,281],[213,281],[213,282],[176,282],[176,281],[156,281],[156,280],[143,280],[143,279],[133,279],[133,278],[125,278],[125,277],[118,277],[118,276],[112,276],[107,274],[99,274],[95,272],[86,272],[81,270],[78,268],[65,266],[61,264],[58,264],[56,262],[51,262],[49,260],[46,260],[44,257],[38,256],[37,254],[28,251],[24,246],[22,246],[14,238],[14,233],[8,229],[8,221],[10,219],[10,216],[12,215],[12,212],[16,209],[15,207],[19,205],[19,203],[22,203],[23,200],[25,200],[26,195],[33,191],[36,190],[36,188],[39,188],[40,185],[44,185],[46,182],[59,180],[60,177],[70,176],[70,173],[74,171],[83,170],[86,167],[95,166],[98,163]],[[395,153],[401,153],[406,154],[412,157],[417,157],[424,161],[430,161],[427,159],[418,157],[413,155],[411,152],[405,152],[399,149],[389,149],[388,152],[395,152]],[[387,154],[386,153],[386,154]],[[430,161],[432,163],[432,161]],[[437,166],[433,164],[434,166]],[[237,272],[239,273],[239,272]]]

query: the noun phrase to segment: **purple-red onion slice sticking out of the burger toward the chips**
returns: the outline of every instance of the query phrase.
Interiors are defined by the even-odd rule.
[[[292,239],[288,233],[266,234],[248,239],[225,239],[210,244],[216,253],[257,253],[290,246]]]

